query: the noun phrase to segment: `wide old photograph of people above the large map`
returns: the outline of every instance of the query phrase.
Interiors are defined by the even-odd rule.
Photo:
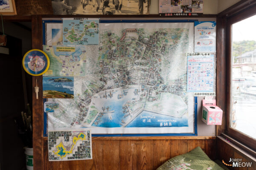
[[[53,14],[149,14],[151,0],[52,0]]]

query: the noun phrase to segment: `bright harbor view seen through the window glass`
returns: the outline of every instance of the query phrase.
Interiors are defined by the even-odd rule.
[[[256,15],[232,25],[231,127],[256,139]]]

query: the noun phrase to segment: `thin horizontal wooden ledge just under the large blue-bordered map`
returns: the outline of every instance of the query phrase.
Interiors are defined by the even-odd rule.
[[[185,139],[216,139],[216,136],[93,136],[93,140],[185,140]],[[44,140],[48,140],[48,137],[44,137]]]

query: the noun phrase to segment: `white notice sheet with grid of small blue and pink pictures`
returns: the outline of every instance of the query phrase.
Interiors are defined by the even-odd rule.
[[[210,53],[188,53],[186,55],[188,59],[187,92],[213,92],[214,55]]]

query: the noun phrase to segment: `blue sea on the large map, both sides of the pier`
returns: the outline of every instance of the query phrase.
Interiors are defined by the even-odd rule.
[[[94,127],[123,127],[126,122],[131,119],[130,116],[125,116],[123,113],[123,106],[126,102],[132,101],[136,95],[135,89],[128,90],[128,94],[122,99],[116,99],[118,92],[113,92],[113,97],[104,99],[103,107],[109,107],[108,113],[103,113],[98,116],[92,124]],[[112,111],[112,112],[111,112]],[[150,119],[150,120],[149,120]],[[162,123],[162,126],[161,124]],[[126,127],[187,127],[188,119],[186,114],[182,118],[175,118],[163,114],[142,111],[134,120],[132,120]]]

